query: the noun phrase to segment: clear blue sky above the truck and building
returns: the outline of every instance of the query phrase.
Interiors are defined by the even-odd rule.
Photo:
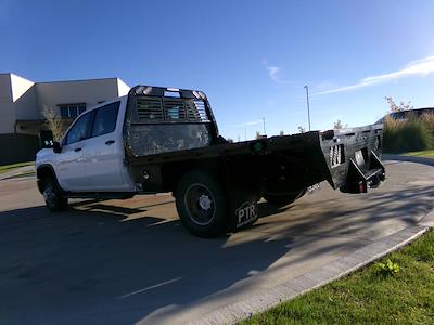
[[[201,89],[220,133],[253,138],[336,119],[384,96],[434,106],[434,1],[0,0],[0,72],[35,81],[119,77]]]

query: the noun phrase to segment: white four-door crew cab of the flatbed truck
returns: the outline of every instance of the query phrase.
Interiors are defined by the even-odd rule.
[[[38,172],[51,169],[65,192],[135,192],[124,166],[126,102],[123,96],[78,116],[53,150],[37,154]]]

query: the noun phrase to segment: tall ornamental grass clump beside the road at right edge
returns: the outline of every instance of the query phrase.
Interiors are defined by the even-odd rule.
[[[383,151],[386,153],[404,153],[431,150],[434,144],[430,128],[434,117],[409,117],[395,120],[386,117],[384,121]]]

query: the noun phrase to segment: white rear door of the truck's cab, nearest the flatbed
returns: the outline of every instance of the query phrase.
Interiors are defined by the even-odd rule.
[[[120,101],[93,110],[93,123],[84,150],[85,170],[94,192],[120,192],[125,188],[122,172],[124,145]]]

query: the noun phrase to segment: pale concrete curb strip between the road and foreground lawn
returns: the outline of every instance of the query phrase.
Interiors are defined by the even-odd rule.
[[[434,216],[434,211],[427,213],[425,217],[430,214]],[[248,318],[253,314],[267,311],[283,301],[292,300],[299,295],[306,294],[363,268],[417,239],[429,229],[427,225],[414,225],[404,229],[378,242],[369,244],[346,257],[339,258],[322,268],[299,275],[273,288],[264,290],[246,300],[218,309],[189,324],[234,324]]]

